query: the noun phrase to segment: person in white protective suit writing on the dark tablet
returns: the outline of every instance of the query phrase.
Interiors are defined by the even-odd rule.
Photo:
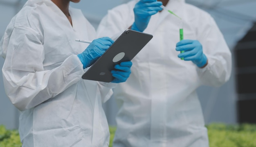
[[[0,42],[4,88],[20,110],[22,147],[108,147],[101,102],[130,75],[132,62],[112,70],[110,83],[81,77],[114,42],[96,39],[79,9],[80,0],[28,0]],[[75,39],[92,40],[90,45]]]

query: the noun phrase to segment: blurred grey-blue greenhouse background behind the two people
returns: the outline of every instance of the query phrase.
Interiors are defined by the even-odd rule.
[[[81,0],[79,4],[72,3],[71,5],[72,7],[81,9],[85,17],[97,28],[101,18],[107,13],[108,9],[128,1],[129,0]],[[2,37],[11,18],[22,8],[25,2],[26,0],[0,0],[0,37]],[[246,41],[246,36],[250,38],[253,36],[250,34],[256,31],[256,26],[254,26],[254,22],[256,22],[256,0],[186,0],[186,2],[204,9],[213,16],[233,55],[232,75],[225,85],[219,88],[202,86],[198,89],[206,124],[215,122],[236,124],[241,121],[238,114],[246,115],[246,117],[252,118],[250,119],[251,123],[256,123],[254,113],[256,109],[256,90],[242,90],[241,93],[238,81],[244,81],[242,83],[245,84],[249,83],[246,83],[247,81],[243,79],[238,80],[238,77],[243,76],[237,76],[241,73],[249,74],[254,77],[251,81],[256,81],[256,59],[250,60],[254,61],[254,64],[245,67],[240,66],[240,64],[237,66],[238,62],[235,60],[235,55],[238,55],[236,53],[242,55],[241,51],[243,51],[243,48],[240,48],[241,44],[245,46],[245,49],[249,48],[252,52],[253,49],[256,50],[256,39]],[[254,37],[255,36],[256,35],[254,35]],[[239,50],[239,52],[237,52],[236,49]],[[255,54],[252,53],[252,55]],[[237,59],[240,59],[240,57]],[[4,59],[0,58],[1,69],[3,63]],[[242,100],[243,103],[241,106],[240,102]],[[251,108],[253,104],[255,105],[254,109]],[[103,107],[108,118],[108,123],[110,125],[116,125],[115,114],[117,113],[117,106],[115,99],[111,98],[103,104]],[[242,112],[242,108],[250,109]],[[5,95],[2,72],[0,72],[0,125],[4,125],[7,129],[17,129],[18,116],[18,110]]]

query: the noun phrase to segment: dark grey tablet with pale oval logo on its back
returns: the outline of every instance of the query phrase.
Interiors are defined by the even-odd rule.
[[[122,61],[132,60],[137,53],[152,39],[153,35],[134,30],[126,30],[85,72],[83,79],[111,82],[111,70]]]

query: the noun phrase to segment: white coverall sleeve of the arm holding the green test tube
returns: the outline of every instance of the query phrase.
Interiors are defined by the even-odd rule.
[[[212,17],[207,25],[199,25],[199,42],[203,46],[203,53],[208,59],[208,65],[197,68],[203,85],[221,86],[231,75],[231,52],[225,39]]]

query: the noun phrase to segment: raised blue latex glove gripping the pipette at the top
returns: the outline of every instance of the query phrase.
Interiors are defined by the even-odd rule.
[[[140,0],[137,2],[133,9],[135,22],[132,24],[131,29],[143,32],[148,26],[151,15],[162,10],[161,5],[162,2],[157,2],[157,0]]]

